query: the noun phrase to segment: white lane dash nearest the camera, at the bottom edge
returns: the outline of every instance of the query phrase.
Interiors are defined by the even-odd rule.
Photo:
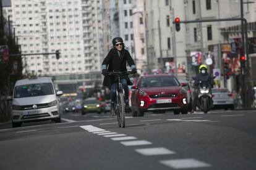
[[[198,161],[192,158],[188,159],[179,159],[179,160],[163,160],[160,163],[169,166],[174,169],[184,169],[184,168],[203,168],[210,167],[211,164],[203,163],[202,161]]]

